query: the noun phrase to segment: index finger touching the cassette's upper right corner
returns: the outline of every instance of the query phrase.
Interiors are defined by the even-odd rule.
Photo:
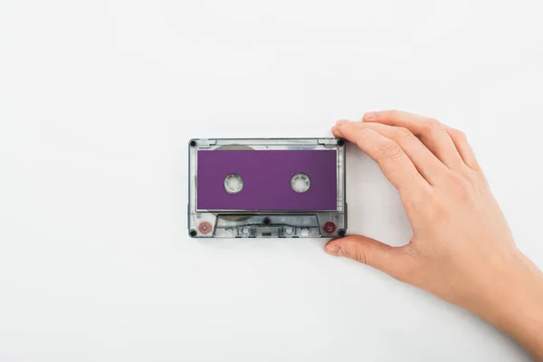
[[[430,187],[418,173],[413,162],[405,155],[404,150],[392,139],[380,135],[373,129],[359,128],[356,122],[339,124],[332,132],[336,137],[346,138],[355,143],[372,157],[401,195],[405,195],[404,189]]]

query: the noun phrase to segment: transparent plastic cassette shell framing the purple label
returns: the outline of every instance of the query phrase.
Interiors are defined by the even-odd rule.
[[[341,138],[195,138],[188,144],[188,233],[195,238],[334,238],[347,233],[346,142]],[[336,205],[326,210],[198,209],[198,151],[335,150]],[[227,175],[224,175],[227,176]],[[299,177],[300,178],[300,177]],[[293,179],[293,182],[298,179]],[[224,186],[226,187],[226,185]],[[294,192],[294,191],[293,191]]]

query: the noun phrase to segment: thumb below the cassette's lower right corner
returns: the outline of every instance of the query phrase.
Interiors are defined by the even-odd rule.
[[[392,276],[397,275],[396,271],[403,262],[401,247],[393,247],[362,235],[332,240],[324,250],[331,255],[346,256],[362,262]]]

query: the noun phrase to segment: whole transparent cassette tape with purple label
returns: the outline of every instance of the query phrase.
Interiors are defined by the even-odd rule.
[[[345,145],[341,138],[191,139],[189,235],[345,236]]]

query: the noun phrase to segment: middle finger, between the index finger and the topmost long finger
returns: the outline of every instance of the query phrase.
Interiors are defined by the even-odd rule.
[[[411,159],[414,167],[428,181],[434,185],[443,176],[443,170],[447,167],[424,146],[419,138],[403,127],[388,126],[382,123],[358,123],[360,127],[367,127],[378,132],[380,135],[394,140],[405,151]]]

